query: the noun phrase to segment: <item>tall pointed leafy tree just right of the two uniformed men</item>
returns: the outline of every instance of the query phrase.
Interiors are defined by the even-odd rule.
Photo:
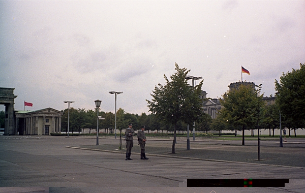
[[[159,87],[155,86],[153,94],[150,94],[153,99],[146,100],[152,114],[174,126],[172,153],[175,153],[177,122],[192,124],[202,114],[199,94],[203,81],[193,88],[185,79],[190,70],[179,68],[177,63],[175,67],[176,72],[170,76],[171,81],[164,75],[165,85],[159,83]]]

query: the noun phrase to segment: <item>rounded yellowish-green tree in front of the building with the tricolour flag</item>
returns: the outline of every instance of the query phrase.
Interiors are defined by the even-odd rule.
[[[225,92],[224,100],[220,100],[224,107],[219,116],[234,128],[242,127],[242,145],[245,145],[245,130],[258,128],[262,119],[264,102],[260,87],[240,85],[238,89]]]

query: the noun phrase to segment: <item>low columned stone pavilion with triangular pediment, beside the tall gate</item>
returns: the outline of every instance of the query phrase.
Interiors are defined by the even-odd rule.
[[[15,111],[16,135],[50,135],[62,128],[63,112],[52,108],[37,111]]]

